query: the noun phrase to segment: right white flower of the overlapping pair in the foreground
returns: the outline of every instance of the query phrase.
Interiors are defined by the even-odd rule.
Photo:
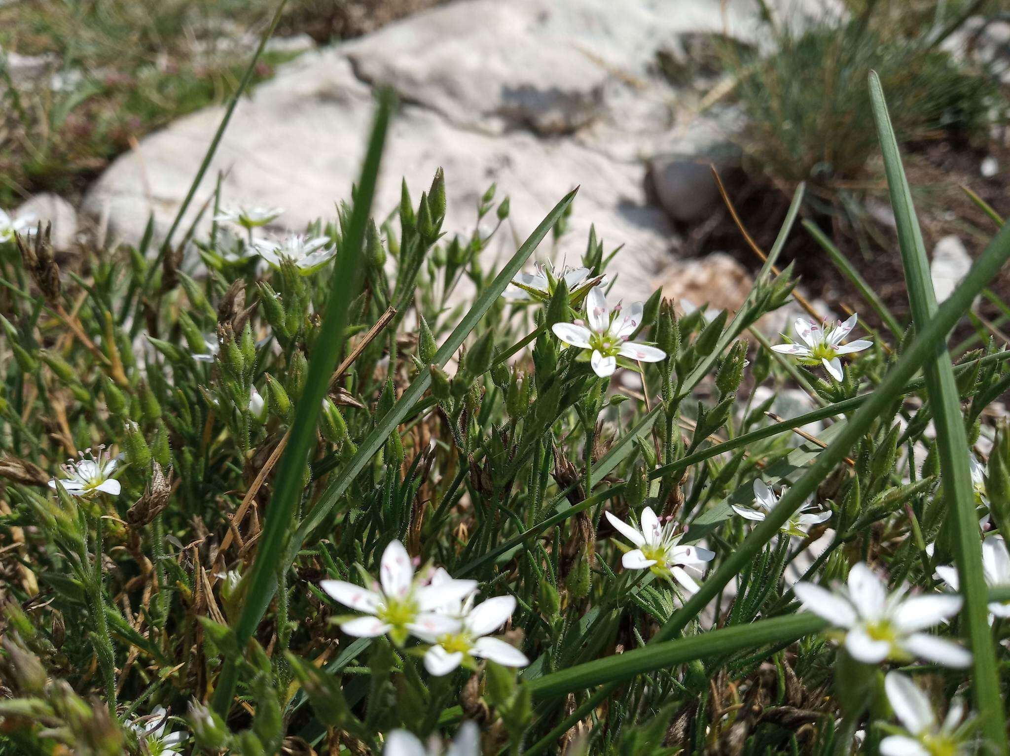
[[[432,586],[452,582],[448,572],[439,567],[431,578]],[[515,599],[511,596],[496,596],[474,606],[476,593],[470,593],[465,601],[449,602],[441,612],[459,620],[458,631],[445,634],[414,633],[426,643],[432,644],[424,652],[424,668],[436,677],[448,674],[461,664],[473,665],[475,658],[491,659],[506,667],[524,667],[529,659],[519,649],[498,638],[487,636],[500,628],[515,612]]]

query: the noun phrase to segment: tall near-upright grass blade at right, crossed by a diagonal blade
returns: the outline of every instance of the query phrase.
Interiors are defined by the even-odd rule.
[[[877,134],[884,154],[891,191],[891,205],[898,229],[912,321],[916,329],[924,329],[936,312],[936,296],[929,275],[929,260],[922,242],[922,232],[915,216],[912,194],[905,178],[905,171],[898,150],[898,142],[888,117],[884,91],[877,74],[870,74],[870,98],[874,109]],[[982,729],[991,746],[999,753],[1007,753],[1006,723],[992,634],[989,629],[989,610],[986,599],[986,578],[982,568],[982,540],[975,514],[975,493],[969,468],[968,434],[962,416],[961,398],[954,382],[950,353],[946,338],[936,341],[936,350],[923,366],[926,391],[933,405],[933,423],[936,426],[936,443],[939,451],[940,470],[944,498],[948,506],[947,526],[956,536],[955,561],[965,597],[965,610],[969,642],[974,655],[973,689]]]

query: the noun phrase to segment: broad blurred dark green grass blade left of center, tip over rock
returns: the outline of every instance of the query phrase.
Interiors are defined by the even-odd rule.
[[[392,108],[392,94],[383,93],[376,110],[375,124],[365,155],[365,164],[362,167],[361,180],[358,183],[350,222],[343,237],[340,253],[336,257],[336,264],[333,266],[329,296],[326,298],[322,316],[323,333],[343,333],[347,325],[347,308],[361,288],[362,246],[372,213],[372,200],[375,196],[379,164],[386,143]],[[295,406],[290,440],[278,464],[274,494],[267,510],[256,561],[249,573],[245,603],[234,628],[240,646],[244,646],[252,637],[274,598],[278,570],[286,567],[282,564],[285,557],[285,540],[289,535],[289,525],[294,519],[295,506],[301,497],[302,475],[310,447],[315,442],[319,410],[342,347],[343,343],[339,339],[320,338],[316,340],[312,350],[305,388]],[[222,674],[222,677],[224,676]],[[233,672],[228,677],[233,683]],[[224,680],[225,683],[228,681],[229,679]],[[233,688],[229,690],[227,684],[219,682],[218,689],[214,692],[214,708],[222,716],[231,701]]]

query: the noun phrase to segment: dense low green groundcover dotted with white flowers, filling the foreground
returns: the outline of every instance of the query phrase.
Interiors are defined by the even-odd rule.
[[[507,259],[494,187],[373,219],[386,99],[299,235],[0,216],[0,753],[1007,753],[1010,352],[944,344],[1010,231],[937,306],[871,94],[897,334],[762,334],[802,185],[736,313],[551,264],[576,192]]]

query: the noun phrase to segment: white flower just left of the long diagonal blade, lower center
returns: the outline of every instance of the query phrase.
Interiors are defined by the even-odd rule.
[[[715,552],[700,546],[681,546],[684,534],[674,535],[674,522],[671,520],[665,526],[660,525],[660,519],[651,507],[641,511],[641,530],[621,522],[609,512],[607,520],[631,543],[638,548],[625,552],[621,564],[625,569],[648,568],[656,575],[676,580],[689,592],[698,590],[694,581],[684,569],[691,566],[703,569],[700,565],[715,558]]]

